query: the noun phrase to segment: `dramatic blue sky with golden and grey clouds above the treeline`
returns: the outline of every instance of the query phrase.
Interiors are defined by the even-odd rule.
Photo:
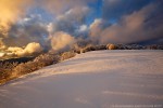
[[[0,0],[0,46],[46,48],[80,38],[163,44],[162,5],[162,0]]]

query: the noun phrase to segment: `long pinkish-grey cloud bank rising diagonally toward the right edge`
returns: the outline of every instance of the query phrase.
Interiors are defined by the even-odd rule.
[[[104,29],[101,27],[101,19],[96,19],[90,26],[90,32],[92,32],[90,38],[97,38],[99,43],[137,43],[161,39],[163,38],[163,15],[159,10],[162,10],[161,4],[149,4],[122,16],[120,22]]]

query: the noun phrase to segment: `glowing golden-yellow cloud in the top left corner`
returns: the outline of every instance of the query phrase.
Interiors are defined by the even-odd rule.
[[[0,0],[0,25],[9,29],[10,23],[24,15],[30,2],[32,0]]]

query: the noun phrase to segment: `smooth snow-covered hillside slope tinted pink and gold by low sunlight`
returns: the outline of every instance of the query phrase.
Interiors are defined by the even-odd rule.
[[[89,52],[0,86],[0,108],[161,104],[163,51]]]

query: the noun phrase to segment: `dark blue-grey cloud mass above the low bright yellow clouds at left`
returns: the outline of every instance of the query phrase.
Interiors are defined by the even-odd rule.
[[[47,37],[47,24],[39,14],[35,14],[12,25],[3,41],[9,46],[23,46],[30,42],[46,45]]]

